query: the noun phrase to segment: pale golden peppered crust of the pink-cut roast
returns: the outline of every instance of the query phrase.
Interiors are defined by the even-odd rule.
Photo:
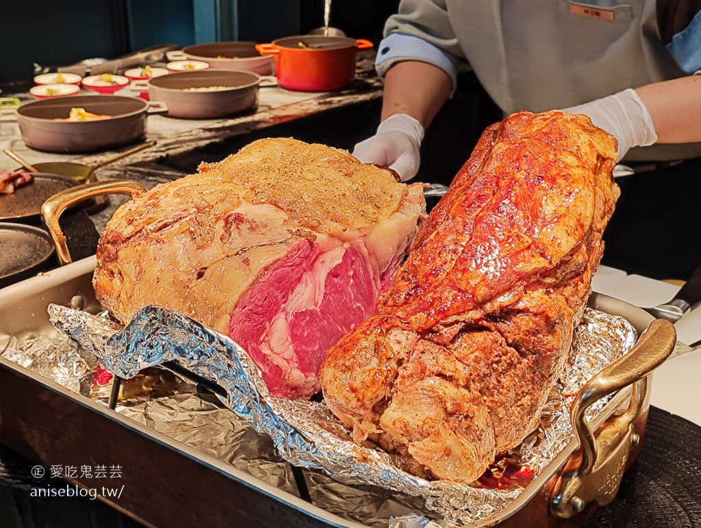
[[[100,237],[93,286],[123,323],[156,304],[228,334],[241,293],[294,243],[366,237],[386,246],[372,256],[384,270],[404,251],[402,240],[382,244],[387,231],[413,239],[423,211],[421,184],[397,183],[388,169],[324,145],[260,139],[119,207]]]

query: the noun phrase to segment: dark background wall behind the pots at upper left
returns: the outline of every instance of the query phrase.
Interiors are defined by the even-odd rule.
[[[333,0],[331,25],[378,42],[399,0]],[[267,42],[323,25],[324,0],[32,0],[4,3],[0,83],[27,81],[33,63],[111,59],[157,44]]]

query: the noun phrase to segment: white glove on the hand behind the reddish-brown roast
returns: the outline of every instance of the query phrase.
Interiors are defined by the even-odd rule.
[[[629,148],[648,146],[657,141],[657,132],[650,113],[631,88],[564,111],[583,113],[594,125],[618,139],[618,161],[625,156]]]

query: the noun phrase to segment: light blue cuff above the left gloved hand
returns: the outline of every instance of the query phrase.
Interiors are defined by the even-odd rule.
[[[418,36],[393,33],[386,36],[378,46],[375,68],[380,76],[385,76],[388,69],[397,62],[417,60],[428,62],[445,71],[453,84],[457,85],[458,62],[460,59]]]

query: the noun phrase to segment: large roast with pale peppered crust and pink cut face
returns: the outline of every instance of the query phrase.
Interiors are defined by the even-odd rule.
[[[93,285],[123,323],[147,305],[183,312],[247,350],[273,396],[308,398],[424,211],[421,185],[389,169],[261,139],[123,204],[100,237]]]

